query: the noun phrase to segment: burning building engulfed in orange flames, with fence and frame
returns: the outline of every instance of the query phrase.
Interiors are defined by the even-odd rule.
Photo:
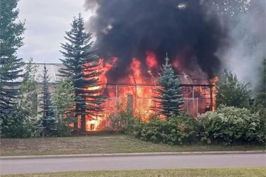
[[[108,96],[104,103],[104,111],[94,119],[86,116],[86,130],[104,130],[113,129],[111,115],[117,111],[131,109],[134,116],[140,117],[143,121],[147,120],[150,115],[154,114],[151,107],[156,106],[153,101],[156,83],[157,72],[159,70],[156,55],[153,52],[146,53],[146,65],[149,70],[143,72],[140,60],[132,58],[128,68],[125,72],[128,75],[121,77],[118,81],[112,83],[107,77],[108,71],[115,67],[119,60],[113,57],[111,62],[101,63],[98,70],[103,70],[99,80],[106,83],[105,93]],[[173,65],[176,65],[173,62]],[[186,112],[196,118],[199,114],[211,111],[214,109],[215,100],[215,81],[217,78],[209,79],[209,77],[200,69],[186,70],[176,65],[174,67],[176,73],[179,75],[181,81],[180,86],[183,88],[184,108]],[[119,76],[117,76],[119,77]],[[110,79],[112,81],[112,79]]]

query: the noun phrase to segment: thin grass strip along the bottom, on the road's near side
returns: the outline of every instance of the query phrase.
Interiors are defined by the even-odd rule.
[[[159,170],[120,170],[120,171],[75,171],[75,172],[56,172],[56,173],[30,173],[1,175],[2,177],[171,177],[171,176],[236,176],[236,177],[262,177],[265,176],[265,167],[248,168],[183,168],[183,169],[159,169]]]

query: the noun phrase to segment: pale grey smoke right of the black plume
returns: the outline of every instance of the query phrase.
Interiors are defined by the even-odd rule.
[[[231,69],[241,81],[255,86],[265,58],[265,0],[230,3],[220,14],[228,28],[228,45],[218,52],[221,68]]]

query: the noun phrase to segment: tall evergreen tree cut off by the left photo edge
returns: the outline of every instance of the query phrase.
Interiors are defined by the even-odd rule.
[[[8,125],[8,118],[16,114],[15,99],[19,95],[18,89],[12,83],[22,77],[22,58],[17,58],[17,49],[23,45],[25,22],[18,21],[19,0],[1,0],[0,3],[0,117],[1,127]]]

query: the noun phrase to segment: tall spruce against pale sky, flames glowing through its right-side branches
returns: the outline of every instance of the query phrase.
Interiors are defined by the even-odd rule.
[[[71,23],[72,29],[65,32],[64,37],[67,42],[61,43],[63,50],[60,52],[64,59],[60,59],[65,68],[61,68],[59,72],[61,76],[68,77],[72,80],[75,92],[75,117],[81,118],[81,131],[85,131],[85,115],[90,119],[94,119],[98,113],[103,111],[101,106],[105,96],[101,93],[104,87],[98,79],[103,71],[99,71],[97,67],[98,56],[94,55],[95,50],[91,49],[92,34],[85,32],[84,20],[81,13],[78,17],[74,17]],[[75,125],[76,127],[76,125]]]

